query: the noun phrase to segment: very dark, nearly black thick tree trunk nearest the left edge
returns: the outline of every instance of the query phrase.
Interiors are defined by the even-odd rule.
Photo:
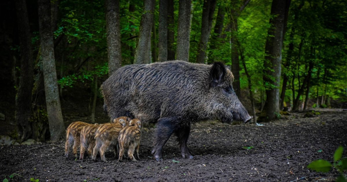
[[[18,35],[20,42],[20,79],[16,96],[15,120],[18,139],[24,141],[32,137],[29,123],[31,117],[31,90],[33,88],[33,52],[29,27],[28,11],[25,0],[16,0]]]

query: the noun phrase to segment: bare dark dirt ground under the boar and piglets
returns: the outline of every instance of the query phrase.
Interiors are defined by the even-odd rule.
[[[292,181],[302,177],[302,181],[333,181],[336,170],[316,173],[306,166],[319,158],[332,162],[338,146],[344,146],[343,156],[347,156],[347,111],[303,116],[288,115],[262,127],[195,124],[188,140],[193,160],[180,157],[172,136],[163,149],[163,161],[156,162],[151,154],[153,128],[143,133],[139,162],[117,162],[111,150],[106,153],[108,163],[100,156],[97,162],[88,157],[75,160],[71,153],[66,160],[64,141],[2,146],[1,180],[16,173],[23,177],[14,175],[15,181]]]

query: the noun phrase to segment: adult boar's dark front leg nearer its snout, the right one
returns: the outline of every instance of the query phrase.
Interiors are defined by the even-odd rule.
[[[179,143],[179,149],[181,150],[181,155],[183,158],[193,159],[193,156],[189,153],[187,147],[187,141],[189,138],[189,133],[191,132],[190,125],[182,128],[177,128],[175,133],[177,135],[177,140]]]

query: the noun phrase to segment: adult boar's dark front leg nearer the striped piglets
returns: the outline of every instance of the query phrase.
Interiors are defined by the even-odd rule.
[[[154,134],[154,148],[152,154],[154,154],[155,160],[159,161],[163,146],[169,140],[172,132],[176,129],[176,118],[161,118],[156,124],[156,132]]]

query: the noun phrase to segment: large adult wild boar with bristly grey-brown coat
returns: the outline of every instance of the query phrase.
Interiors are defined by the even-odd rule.
[[[172,133],[178,137],[182,157],[192,159],[187,148],[191,123],[252,119],[232,88],[233,80],[221,62],[167,61],[121,67],[101,90],[112,120],[128,116],[156,123],[152,154],[157,161]]]

